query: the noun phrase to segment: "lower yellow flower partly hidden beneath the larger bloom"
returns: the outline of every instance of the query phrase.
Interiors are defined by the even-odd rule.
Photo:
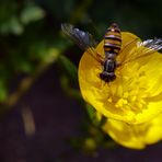
[[[124,147],[143,149],[148,144],[162,140],[162,114],[140,125],[107,119],[103,130]]]

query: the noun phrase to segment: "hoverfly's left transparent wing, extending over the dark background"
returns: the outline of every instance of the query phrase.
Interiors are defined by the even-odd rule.
[[[89,32],[76,28],[71,24],[61,24],[62,32],[69,36],[82,50],[88,51],[94,59],[103,63],[103,57],[95,51],[96,42]]]

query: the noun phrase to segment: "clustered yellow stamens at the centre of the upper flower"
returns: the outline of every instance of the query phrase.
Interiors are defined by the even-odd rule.
[[[118,85],[118,84],[117,84]],[[121,85],[116,85],[115,88],[108,88],[108,96],[107,102],[109,104],[114,104],[115,108],[119,108],[120,111],[130,111],[134,113],[141,113],[143,108],[147,108],[147,102],[144,97],[141,96],[143,89],[135,88],[129,90],[128,88],[124,88]]]

